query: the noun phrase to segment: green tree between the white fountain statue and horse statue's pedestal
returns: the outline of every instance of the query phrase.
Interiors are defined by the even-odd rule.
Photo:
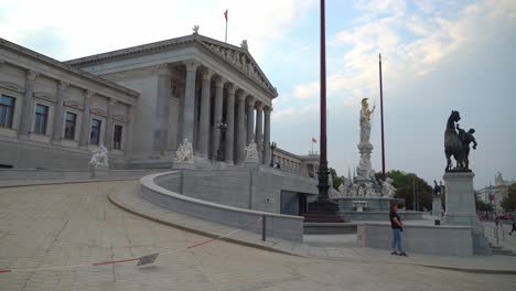
[[[396,187],[395,197],[405,200],[405,207],[407,209],[413,209],[413,193],[417,194],[419,209],[430,209],[432,207],[433,188],[427,181],[413,173],[406,173],[400,170],[391,170],[386,175],[394,180],[393,185]],[[381,173],[376,174],[377,179],[380,176]]]

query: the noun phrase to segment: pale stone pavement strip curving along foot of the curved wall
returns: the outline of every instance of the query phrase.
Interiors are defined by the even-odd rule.
[[[155,218],[157,222],[165,223],[171,226],[179,225],[185,230],[193,230],[195,233],[207,235],[211,237],[221,234],[227,234],[235,230],[235,228],[232,227],[222,226],[212,222],[206,222],[198,218],[194,218],[192,216],[174,213],[168,208],[154,205],[151,202],[142,198],[139,195],[138,191],[139,188],[135,187],[132,188],[132,191],[123,191],[109,194],[109,197],[111,202],[126,209],[129,209],[132,213],[141,214],[146,217]],[[214,231],[214,229],[216,229],[216,231]],[[338,242],[335,242],[334,238],[327,239],[327,241],[333,242],[329,244],[329,246],[324,246],[324,244],[321,242],[325,240],[324,236],[309,237],[312,237],[312,239],[308,239],[309,244],[298,244],[277,238],[269,238],[271,239],[271,241],[262,241],[260,235],[249,231],[240,231],[237,236],[232,236],[226,240],[302,257],[346,259],[351,261],[361,262],[418,265],[433,268],[462,270],[469,272],[498,272],[516,274],[516,257],[447,257],[415,254],[410,255],[410,257],[408,258],[402,258],[399,256],[393,256],[389,254],[389,251],[385,250],[358,248],[356,247],[356,244],[355,246],[353,246],[353,244],[351,242],[350,235],[342,236],[342,247],[338,247]],[[336,251],[336,249],[338,249],[340,251]]]

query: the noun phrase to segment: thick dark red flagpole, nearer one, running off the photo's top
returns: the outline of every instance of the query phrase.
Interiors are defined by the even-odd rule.
[[[329,171],[326,159],[326,35],[324,0],[321,0],[321,155],[319,161],[319,201],[329,201]]]

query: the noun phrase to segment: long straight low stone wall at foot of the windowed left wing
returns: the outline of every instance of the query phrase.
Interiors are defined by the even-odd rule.
[[[141,177],[151,173],[149,170],[97,170],[96,177]],[[154,171],[155,172],[155,171]],[[36,170],[36,169],[0,169],[0,181],[9,180],[88,180],[92,173],[87,170]]]

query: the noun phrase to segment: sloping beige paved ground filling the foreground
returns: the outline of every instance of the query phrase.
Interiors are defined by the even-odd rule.
[[[0,290],[512,290],[514,274],[300,257],[214,241],[108,201],[138,181],[0,188]],[[312,238],[316,239],[316,238]],[[155,263],[94,262],[166,252]],[[347,246],[347,251],[359,250]],[[55,268],[76,266],[69,268]],[[41,268],[41,269],[40,269]],[[54,268],[54,269],[44,269]],[[35,270],[40,269],[40,270]],[[514,290],[514,289],[513,289]]]

